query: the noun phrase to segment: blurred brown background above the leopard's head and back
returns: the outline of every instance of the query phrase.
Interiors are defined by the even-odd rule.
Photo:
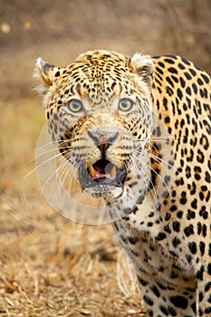
[[[66,65],[93,49],[176,53],[210,72],[209,0],[1,0],[1,93],[32,94],[37,57]]]

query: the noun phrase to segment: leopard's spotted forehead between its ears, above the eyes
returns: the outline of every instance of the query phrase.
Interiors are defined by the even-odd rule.
[[[134,93],[129,58],[120,53],[94,51],[80,55],[75,62],[58,71],[62,91],[71,91],[91,100],[103,95]],[[60,88],[59,87],[59,88]]]

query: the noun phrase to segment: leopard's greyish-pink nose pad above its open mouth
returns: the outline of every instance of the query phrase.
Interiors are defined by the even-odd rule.
[[[91,130],[88,131],[87,134],[94,141],[97,147],[101,147],[101,145],[107,145],[109,147],[119,136],[119,132],[117,130]]]

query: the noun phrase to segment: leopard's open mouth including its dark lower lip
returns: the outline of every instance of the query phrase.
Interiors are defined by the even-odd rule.
[[[126,177],[126,171],[117,168],[108,159],[99,159],[90,168],[80,171],[82,187],[108,185],[121,187]]]

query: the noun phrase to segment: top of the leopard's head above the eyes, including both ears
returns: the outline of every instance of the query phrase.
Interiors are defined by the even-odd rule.
[[[139,53],[128,57],[100,50],[81,54],[67,67],[40,58],[35,77],[42,79],[37,88],[47,109],[75,98],[87,102],[90,110],[96,105],[111,110],[120,98],[150,99],[153,67],[152,60]]]

